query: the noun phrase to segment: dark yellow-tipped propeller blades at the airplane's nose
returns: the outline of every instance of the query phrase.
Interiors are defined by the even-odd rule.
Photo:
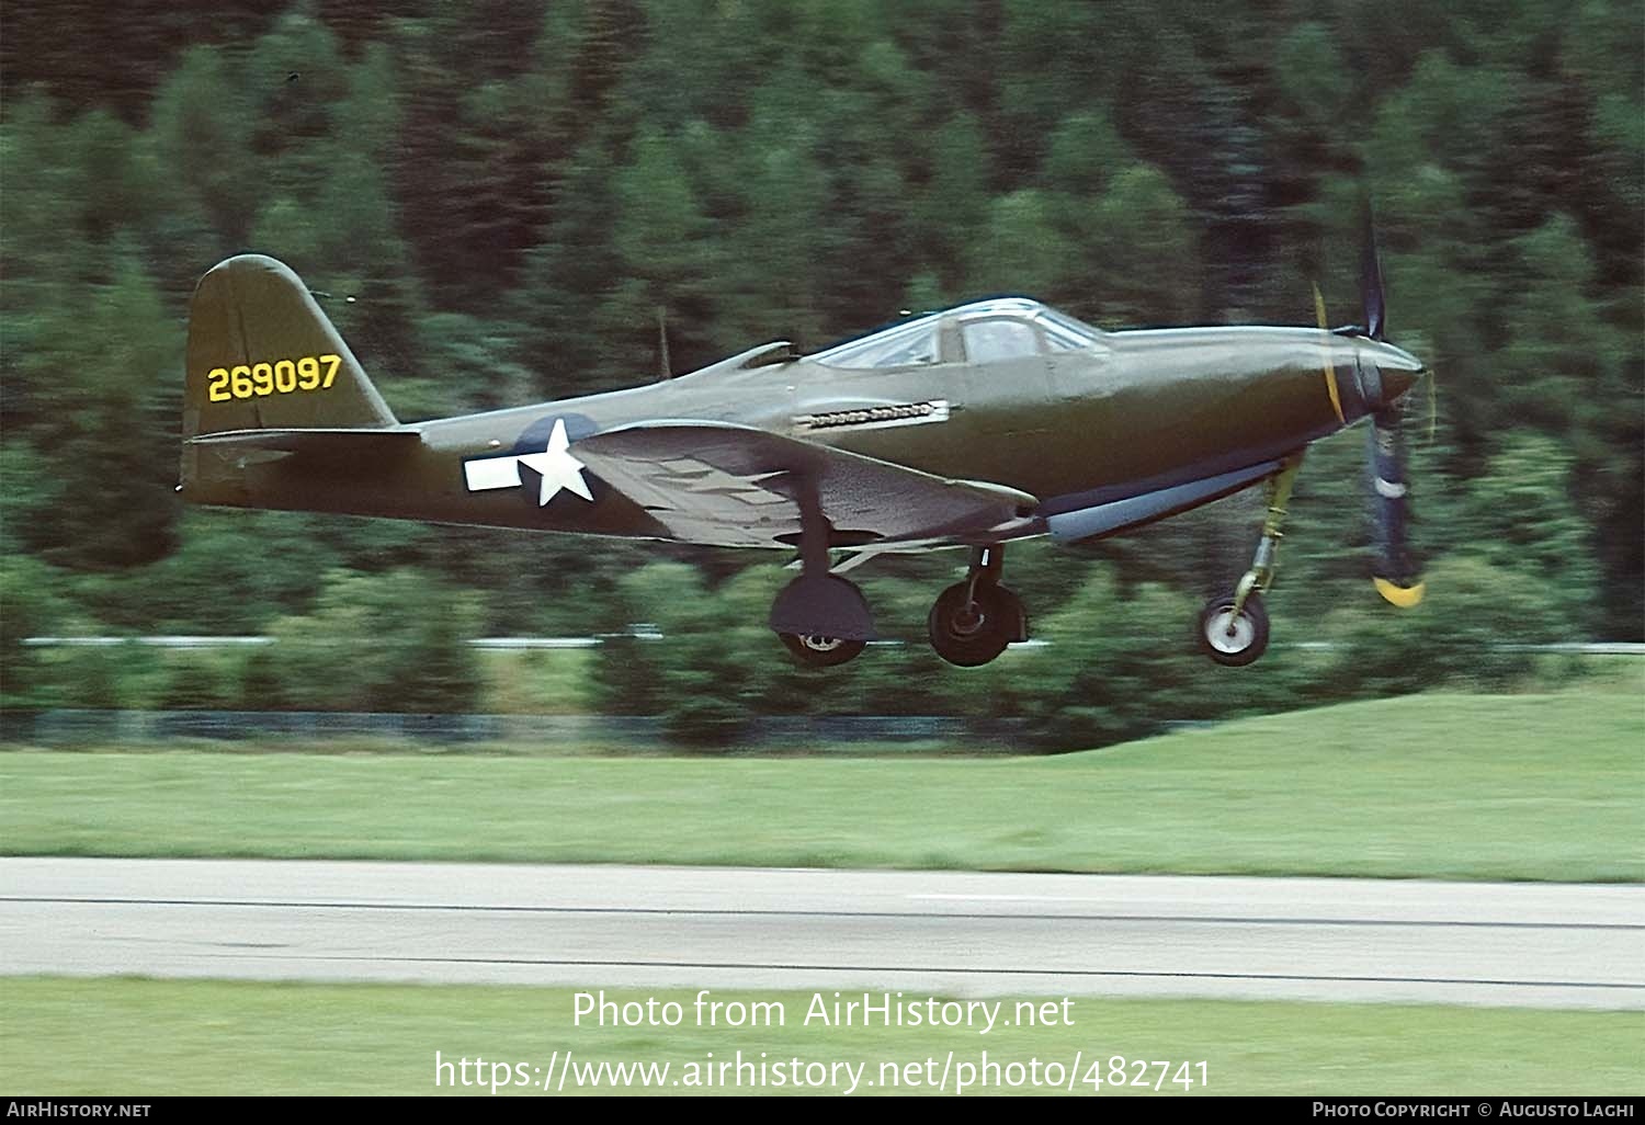
[[[1388,308],[1382,288],[1382,262],[1377,255],[1377,227],[1370,199],[1364,204],[1364,238],[1360,252],[1360,301],[1365,306],[1365,336],[1382,344],[1388,331]],[[1380,391],[1382,372],[1375,352],[1362,350],[1362,375]],[[1370,512],[1375,530],[1372,584],[1383,600],[1410,609],[1423,600],[1423,582],[1406,544],[1411,490],[1405,475],[1405,396],[1385,400],[1370,413]]]

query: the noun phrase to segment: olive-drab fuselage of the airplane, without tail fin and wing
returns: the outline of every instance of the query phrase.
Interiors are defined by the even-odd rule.
[[[630,390],[403,424],[419,441],[342,465],[271,457],[235,465],[215,487],[206,472],[191,498],[668,538],[643,507],[597,480],[592,502],[538,503],[469,467],[541,454],[556,426],[574,456],[589,434],[666,419],[750,426],[1003,485],[1036,497],[1050,518],[1283,457],[1379,408],[1421,370],[1395,347],[1298,327],[1101,332],[1077,347],[1041,342],[979,360],[961,342],[962,317],[938,324],[931,354],[908,363],[852,367],[829,362],[841,349],[801,359],[755,349]]]

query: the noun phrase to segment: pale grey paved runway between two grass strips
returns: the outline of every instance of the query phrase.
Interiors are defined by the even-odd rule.
[[[0,859],[7,974],[1645,1008],[1645,887]]]

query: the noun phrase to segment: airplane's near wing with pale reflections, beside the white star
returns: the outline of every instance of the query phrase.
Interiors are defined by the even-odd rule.
[[[571,447],[679,539],[793,546],[816,488],[834,546],[980,543],[1023,535],[1038,500],[729,423],[640,423]]]

